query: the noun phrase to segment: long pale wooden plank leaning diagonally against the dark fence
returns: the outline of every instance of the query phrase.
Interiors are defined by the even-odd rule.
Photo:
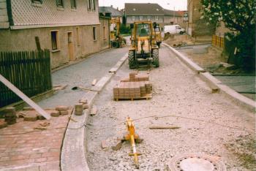
[[[31,107],[33,107],[34,110],[37,110],[37,112],[40,115],[44,116],[46,119],[50,119],[50,115],[48,113],[46,113],[45,110],[42,110],[41,107],[39,107],[36,103],[34,103],[31,99],[29,99],[28,96],[23,94],[23,92],[21,92],[18,88],[16,88],[12,83],[10,83],[9,80],[7,80],[2,75],[0,75],[0,81],[1,81],[1,83],[4,83],[5,86],[10,88],[15,94],[20,96],[20,98],[23,99],[27,104],[29,104]]]

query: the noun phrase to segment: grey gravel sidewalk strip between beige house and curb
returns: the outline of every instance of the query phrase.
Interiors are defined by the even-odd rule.
[[[79,64],[54,72],[52,75],[53,86],[68,86],[64,90],[56,92],[54,96],[39,102],[39,106],[56,107],[57,105],[72,106],[76,104],[83,97],[84,91],[79,89],[72,91],[71,88],[75,86],[90,88],[91,82],[94,79],[99,80],[107,74],[125,53],[127,53],[127,47],[106,50],[103,53],[89,56]]]

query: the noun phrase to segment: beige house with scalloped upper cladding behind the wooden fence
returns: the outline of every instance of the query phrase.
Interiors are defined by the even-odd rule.
[[[54,69],[109,48],[97,0],[0,0],[0,51],[49,49]]]

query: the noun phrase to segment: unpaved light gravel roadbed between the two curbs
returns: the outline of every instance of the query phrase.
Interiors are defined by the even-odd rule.
[[[151,70],[154,93],[150,100],[113,101],[113,86],[131,70],[127,62],[97,97],[98,113],[89,117],[87,155],[91,170],[136,170],[129,142],[113,151],[102,149],[102,140],[122,137],[127,116],[135,121],[136,132],[144,141],[137,145],[140,170],[167,170],[173,156],[205,153],[220,157],[227,170],[253,170],[234,151],[244,148],[241,141],[253,141],[255,115],[211,89],[187,68],[167,47],[160,49],[160,67]],[[151,118],[145,118],[152,116]],[[151,125],[180,126],[180,129],[151,130]],[[232,148],[227,148],[232,146]],[[244,156],[255,151],[244,150]],[[254,158],[252,158],[254,161]]]

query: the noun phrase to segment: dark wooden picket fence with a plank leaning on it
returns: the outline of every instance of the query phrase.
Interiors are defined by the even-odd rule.
[[[0,74],[27,96],[52,89],[50,51],[0,52]],[[0,107],[20,101],[9,88],[0,83]]]

